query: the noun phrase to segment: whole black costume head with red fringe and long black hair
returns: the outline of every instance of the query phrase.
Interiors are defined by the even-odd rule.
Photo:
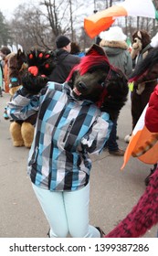
[[[128,93],[124,74],[110,64],[98,45],[93,45],[79,65],[71,70],[67,81],[76,98],[94,101],[99,107],[107,97],[114,99]]]

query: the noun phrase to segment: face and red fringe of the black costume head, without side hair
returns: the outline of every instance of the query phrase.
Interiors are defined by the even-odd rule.
[[[68,85],[79,100],[100,101],[101,95],[107,94],[106,78],[110,70],[111,65],[104,51],[93,45],[69,73]]]

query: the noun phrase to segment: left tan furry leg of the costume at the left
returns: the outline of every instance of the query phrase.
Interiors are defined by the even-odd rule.
[[[10,124],[10,134],[14,146],[23,146],[24,141],[21,135],[21,125],[13,122]]]

